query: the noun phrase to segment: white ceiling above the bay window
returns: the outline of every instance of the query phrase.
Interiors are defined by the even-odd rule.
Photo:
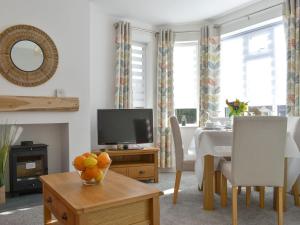
[[[94,0],[105,13],[151,25],[197,22],[257,0]]]

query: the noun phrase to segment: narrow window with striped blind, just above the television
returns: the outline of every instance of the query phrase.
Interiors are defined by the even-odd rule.
[[[132,104],[133,108],[146,106],[146,44],[132,45]]]

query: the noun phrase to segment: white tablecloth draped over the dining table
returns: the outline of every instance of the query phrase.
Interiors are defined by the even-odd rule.
[[[189,151],[196,152],[195,173],[199,184],[202,183],[203,179],[204,156],[216,156],[214,160],[216,170],[221,157],[231,156],[231,145],[231,131],[196,129],[189,145]],[[285,157],[288,158],[287,190],[289,191],[300,174],[300,152],[290,133],[287,133]]]

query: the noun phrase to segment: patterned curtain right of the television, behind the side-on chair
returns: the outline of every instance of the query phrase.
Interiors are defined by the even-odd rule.
[[[157,138],[160,148],[161,168],[172,167],[171,130],[169,117],[174,114],[173,106],[173,49],[174,34],[161,30],[157,44]]]

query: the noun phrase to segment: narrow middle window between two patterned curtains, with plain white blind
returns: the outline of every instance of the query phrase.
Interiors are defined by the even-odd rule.
[[[174,108],[178,121],[197,123],[199,103],[198,41],[175,42],[174,46]],[[185,119],[184,119],[185,117]]]

